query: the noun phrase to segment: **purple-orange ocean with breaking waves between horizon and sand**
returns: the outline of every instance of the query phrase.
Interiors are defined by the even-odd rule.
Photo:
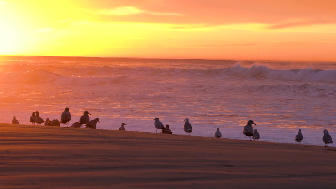
[[[332,62],[224,61],[87,57],[0,57],[0,122],[13,115],[31,124],[32,112],[60,119],[65,107],[77,122],[85,110],[99,129],[155,132],[153,119],[186,135],[245,140],[257,125],[261,141],[324,145],[336,138],[336,64]],[[159,135],[159,134],[158,134]],[[185,136],[187,137],[187,136]],[[333,144],[331,144],[333,146]]]

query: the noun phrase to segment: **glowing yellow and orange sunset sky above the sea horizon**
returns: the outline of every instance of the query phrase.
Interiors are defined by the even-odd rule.
[[[0,54],[336,61],[331,0],[0,0]]]

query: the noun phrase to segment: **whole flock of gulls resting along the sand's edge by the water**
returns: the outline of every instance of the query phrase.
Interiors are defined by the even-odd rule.
[[[91,115],[88,111],[84,111],[84,115],[82,115],[79,118],[78,122],[73,123],[70,127],[83,127],[83,124],[85,124],[85,128],[92,128],[92,129],[96,129],[96,125],[97,122],[100,123],[99,118],[95,118],[93,120],[90,120],[89,115]],[[34,125],[35,123],[37,124],[42,124],[44,122],[44,125],[50,125],[50,126],[60,126],[60,124],[64,125],[66,124],[67,127],[69,127],[69,121],[71,120],[71,114],[70,114],[70,110],[69,108],[65,108],[64,112],[61,114],[60,117],[61,121],[59,121],[58,119],[53,119],[53,120],[49,120],[49,118],[47,118],[45,121],[40,117],[40,113],[38,111],[33,112],[32,116],[30,117],[29,121]],[[158,129],[160,129],[160,133],[164,133],[164,134],[172,134],[173,132],[169,129],[169,125],[164,126],[164,124],[160,121],[159,118],[155,118],[153,119],[154,122],[154,126],[156,128],[156,133],[158,132]],[[184,126],[183,126],[183,130],[186,132],[186,134],[191,135],[191,133],[193,132],[193,127],[192,125],[189,123],[189,119],[185,118],[184,119]],[[13,116],[13,120],[12,120],[13,124],[19,124],[20,122],[16,119],[15,115]],[[257,125],[255,124],[252,120],[249,120],[247,122],[247,125],[244,126],[243,129],[243,134],[245,135],[245,140],[247,140],[247,137],[250,137],[253,140],[258,140],[260,139],[260,134],[258,133],[257,129],[253,130],[252,125]],[[122,123],[121,126],[119,127],[119,130],[125,130],[125,123]],[[322,137],[322,141],[325,143],[325,146],[327,147],[328,144],[333,143],[331,136],[329,135],[329,131],[327,129],[324,129],[323,131],[324,135]],[[215,137],[216,138],[221,138],[222,134],[219,131],[219,128],[217,127],[217,130],[215,132]],[[295,141],[298,144],[301,144],[301,142],[303,141],[303,135],[301,133],[301,129],[299,129],[299,133],[295,136]]]

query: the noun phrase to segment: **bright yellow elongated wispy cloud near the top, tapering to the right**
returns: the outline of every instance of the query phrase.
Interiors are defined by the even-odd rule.
[[[113,9],[102,9],[96,13],[102,15],[136,15],[136,14],[151,14],[159,16],[180,15],[178,13],[171,13],[171,12],[155,12],[155,11],[141,10],[135,6],[122,6]]]

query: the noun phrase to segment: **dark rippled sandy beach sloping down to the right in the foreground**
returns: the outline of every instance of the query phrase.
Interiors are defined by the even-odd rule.
[[[5,123],[0,123],[0,135],[0,188],[336,184],[334,147]]]

